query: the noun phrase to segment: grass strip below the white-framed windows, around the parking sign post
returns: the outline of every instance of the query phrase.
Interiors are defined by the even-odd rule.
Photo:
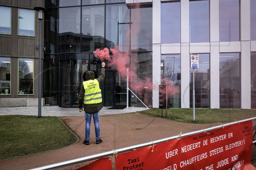
[[[159,108],[151,108],[139,113],[161,117]],[[165,109],[163,109],[165,118]],[[193,122],[193,109],[167,109],[167,119],[187,123],[218,123],[234,122],[256,117],[256,110],[251,109],[195,109],[195,121]]]

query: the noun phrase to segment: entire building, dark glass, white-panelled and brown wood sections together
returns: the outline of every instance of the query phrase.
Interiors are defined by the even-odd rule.
[[[0,99],[37,99],[36,4],[5,2]],[[104,60],[103,106],[126,106],[128,99],[131,107],[159,107],[159,85],[168,84],[168,107],[191,108],[195,83],[196,108],[256,108],[255,0],[45,0],[42,5],[48,9],[42,34],[46,105],[77,107],[83,73],[100,73],[93,52],[107,48],[114,49],[112,59],[118,49],[119,58],[115,64]],[[195,82],[191,53],[199,56]],[[128,94],[126,69],[133,92]],[[122,88],[120,103],[116,83]]]

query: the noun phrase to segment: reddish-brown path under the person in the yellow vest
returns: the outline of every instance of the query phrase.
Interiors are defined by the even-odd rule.
[[[195,130],[219,125],[190,124],[166,120],[139,113],[126,113],[100,116],[101,144],[95,144],[94,124],[91,124],[90,145],[84,145],[85,120],[83,116],[60,117],[76,133],[80,140],[73,145],[54,151],[23,156],[0,161],[1,170],[24,170],[49,165],[65,160],[80,158],[100,152],[111,151],[126,146],[146,143]],[[76,169],[87,163],[81,163],[61,169]]]

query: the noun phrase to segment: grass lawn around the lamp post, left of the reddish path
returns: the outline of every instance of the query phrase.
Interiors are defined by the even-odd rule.
[[[0,160],[62,148],[76,137],[58,117],[0,116]]]

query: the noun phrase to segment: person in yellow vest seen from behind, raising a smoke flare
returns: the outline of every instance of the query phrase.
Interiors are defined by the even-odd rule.
[[[83,144],[90,144],[90,126],[93,116],[96,144],[100,144],[100,109],[102,108],[102,96],[100,90],[100,84],[105,78],[105,63],[101,63],[100,76],[93,70],[88,70],[84,73],[84,82],[81,85],[81,89],[78,96],[78,110],[84,111],[85,116],[85,139]],[[84,103],[84,110],[83,110]]]

